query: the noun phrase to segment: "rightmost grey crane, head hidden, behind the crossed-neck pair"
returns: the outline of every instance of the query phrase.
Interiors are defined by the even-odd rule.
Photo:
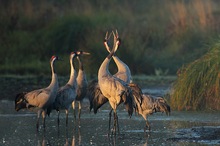
[[[150,95],[143,94],[141,88],[137,84],[131,83],[129,86],[132,88],[132,93],[135,97],[136,111],[142,115],[146,121],[144,131],[146,131],[146,128],[150,130],[150,124],[147,120],[148,115],[155,112],[165,112],[167,115],[170,115],[170,106],[166,103],[164,98],[152,97]],[[142,98],[142,103],[140,103],[140,100],[137,100],[140,98]]]

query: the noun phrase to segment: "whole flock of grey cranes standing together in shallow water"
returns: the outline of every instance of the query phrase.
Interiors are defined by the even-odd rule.
[[[108,41],[113,36],[113,46],[109,47]],[[150,124],[147,116],[155,112],[164,112],[170,114],[170,106],[162,97],[152,97],[143,94],[138,84],[132,81],[132,75],[129,67],[116,56],[116,51],[120,46],[121,40],[117,30],[110,34],[107,32],[104,39],[104,46],[109,54],[101,63],[98,70],[98,79],[87,82],[86,73],[82,56],[90,55],[84,51],[74,51],[70,53],[70,77],[69,81],[59,87],[58,77],[54,67],[56,61],[60,59],[52,56],[50,59],[50,67],[52,72],[51,83],[48,87],[37,89],[29,92],[18,93],[15,97],[15,110],[27,109],[37,113],[36,128],[39,130],[39,119],[42,115],[43,128],[45,130],[46,116],[50,115],[52,110],[57,111],[57,124],[60,123],[60,111],[64,110],[66,114],[66,126],[68,126],[68,115],[70,107],[73,108],[74,119],[76,119],[75,104],[78,103],[78,119],[80,119],[82,101],[85,97],[89,99],[90,111],[94,113],[98,109],[109,102],[111,110],[109,112],[109,133],[119,133],[117,107],[123,103],[128,115],[131,117],[133,112],[142,115],[146,121],[146,128],[150,130]],[[111,74],[109,71],[109,63],[112,60],[117,66],[117,73]],[[74,61],[78,60],[79,70],[76,72]],[[113,128],[111,129],[111,116],[113,111]]]

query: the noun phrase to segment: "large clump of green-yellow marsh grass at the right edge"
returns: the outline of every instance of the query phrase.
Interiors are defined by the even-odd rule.
[[[178,110],[220,110],[220,41],[210,51],[181,68],[171,96]]]

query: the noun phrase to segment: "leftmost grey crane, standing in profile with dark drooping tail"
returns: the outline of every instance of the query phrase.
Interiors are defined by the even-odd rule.
[[[30,91],[22,92],[15,97],[15,110],[27,108],[31,111],[37,112],[37,130],[39,128],[39,118],[42,114],[43,127],[45,129],[45,118],[47,108],[55,101],[57,91],[59,88],[58,78],[54,68],[54,62],[58,60],[57,56],[52,56],[50,59],[50,66],[52,71],[51,83],[48,87]]]

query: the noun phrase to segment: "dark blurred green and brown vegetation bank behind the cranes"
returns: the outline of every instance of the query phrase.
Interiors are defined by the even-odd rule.
[[[103,39],[117,29],[117,55],[132,74],[176,74],[207,52],[220,32],[219,1],[1,0],[0,74],[48,74],[57,54],[69,73],[70,51],[85,50],[87,73],[96,76],[107,55]],[[111,69],[114,69],[113,65]]]

